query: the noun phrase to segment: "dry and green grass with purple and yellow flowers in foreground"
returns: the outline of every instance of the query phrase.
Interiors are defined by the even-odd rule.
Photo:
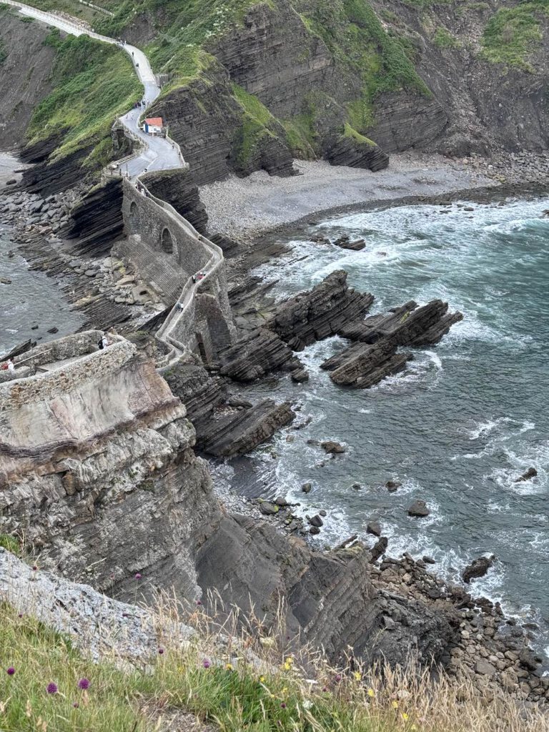
[[[487,701],[470,681],[366,670],[352,657],[332,668],[318,651],[291,654],[281,620],[267,634],[253,613],[247,631],[237,612],[222,618],[162,597],[155,658],[128,665],[113,653],[94,664],[67,638],[4,606],[0,730],[175,732],[200,729],[201,720],[226,732],[549,732],[542,712],[503,695]],[[195,628],[191,641],[163,637],[174,620]],[[78,688],[83,678],[87,690]],[[57,693],[46,691],[51,682]]]

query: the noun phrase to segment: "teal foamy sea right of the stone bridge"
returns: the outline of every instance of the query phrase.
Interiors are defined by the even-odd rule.
[[[279,433],[274,448],[225,468],[244,493],[299,501],[302,514],[326,509],[319,547],[365,537],[378,519],[389,554],[428,554],[451,580],[471,559],[494,553],[495,566],[472,589],[537,621],[540,650],[549,644],[548,208],[540,199],[394,207],[291,236],[291,255],[256,272],[278,280],[275,295],[346,269],[351,286],[376,296],[371,313],[440,298],[463,322],[373,389],[335,386],[320,370],[346,341],[310,346],[298,354],[307,384],[284,378],[246,390],[297,401],[297,421],[310,424],[293,442]],[[366,247],[313,244],[313,231],[361,237]],[[346,454],[326,459],[309,439],[342,442]],[[530,467],[537,477],[515,482]],[[384,488],[389,479],[402,483],[397,493]],[[305,482],[313,483],[307,495]],[[428,518],[408,517],[416,498],[427,502]]]

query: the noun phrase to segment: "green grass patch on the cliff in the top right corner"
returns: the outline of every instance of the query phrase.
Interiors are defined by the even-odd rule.
[[[481,57],[494,64],[533,72],[529,56],[541,45],[541,20],[548,15],[549,0],[530,0],[501,8],[485,27]]]

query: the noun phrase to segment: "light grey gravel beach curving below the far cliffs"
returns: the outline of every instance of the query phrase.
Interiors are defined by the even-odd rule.
[[[493,179],[440,155],[392,155],[378,173],[362,168],[296,160],[301,173],[289,178],[264,171],[247,178],[233,176],[202,186],[200,197],[209,214],[209,231],[250,241],[278,226],[310,214],[356,203],[430,196],[493,186]]]

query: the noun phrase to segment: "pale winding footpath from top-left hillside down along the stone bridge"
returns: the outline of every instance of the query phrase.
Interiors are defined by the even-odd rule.
[[[18,9],[22,15],[26,15],[29,18],[40,20],[43,23],[47,23],[48,26],[54,26],[60,31],[72,34],[74,36],[86,35],[95,40],[108,43],[110,45],[117,45],[122,48],[130,59],[138,75],[139,80],[143,84],[143,98],[145,100],[145,108],[154,102],[160,95],[160,86],[158,86],[154,73],[149,64],[145,53],[141,49],[136,48],[128,43],[121,43],[114,38],[108,36],[102,36],[99,33],[95,33],[93,29],[90,29],[85,24],[81,23],[77,18],[67,18],[66,15],[57,15],[55,12],[44,12],[37,10],[37,8],[31,7],[15,0],[0,0],[2,4],[11,5]],[[206,275],[198,279],[198,273],[195,273],[193,277],[189,277],[184,283],[182,292],[177,300],[176,304],[169,313],[163,325],[157,331],[157,339],[163,341],[167,348],[167,354],[159,362],[159,366],[166,367],[171,364],[174,360],[178,359],[183,353],[190,350],[187,343],[182,343],[180,340],[176,340],[174,333],[179,329],[184,318],[191,317],[191,310],[194,313],[195,307],[195,295],[206,285],[210,277],[220,268],[223,264],[223,251],[220,247],[206,239],[205,236],[198,234],[198,231],[184,219],[173,206],[165,201],[155,198],[147,189],[143,181],[139,180],[139,176],[145,172],[151,171],[165,171],[175,168],[187,168],[179,145],[172,141],[170,138],[153,137],[152,135],[146,135],[141,127],[139,127],[139,119],[143,113],[143,108],[138,107],[131,109],[124,116],[119,118],[126,128],[131,138],[137,139],[140,143],[141,149],[134,155],[131,155],[124,160],[119,161],[119,171],[128,180],[131,181],[137,189],[146,195],[151,201],[160,206],[165,211],[168,211],[170,216],[173,218],[174,223],[184,228],[187,235],[192,236],[196,239],[197,245],[203,247],[208,255],[207,264],[204,268]]]

